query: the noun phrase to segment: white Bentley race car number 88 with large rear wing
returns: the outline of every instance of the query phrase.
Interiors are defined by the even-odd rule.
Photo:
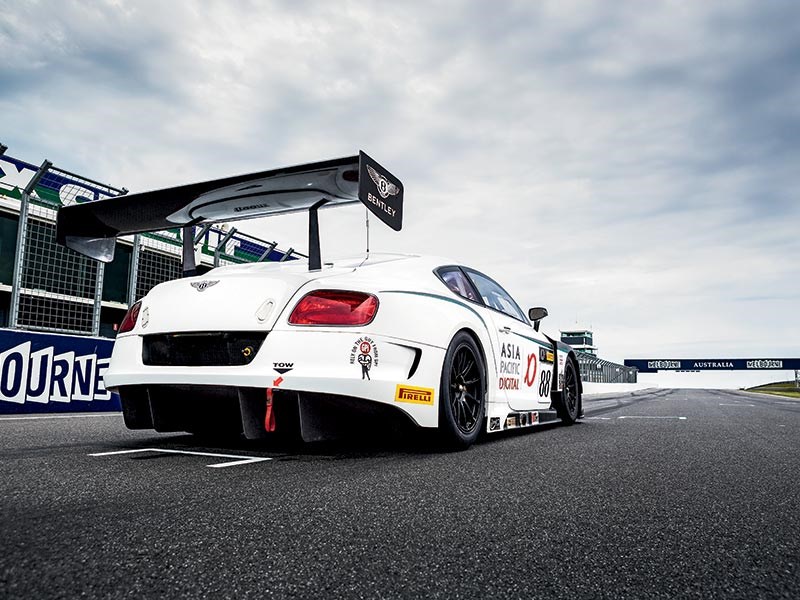
[[[365,157],[358,196],[369,173],[374,200],[401,200],[399,181]],[[304,185],[303,178],[318,184],[327,170],[329,182],[356,179],[347,175],[356,158],[256,174],[233,186],[230,180],[193,184],[207,189],[192,189],[162,212],[172,226],[178,213],[178,223],[198,222],[193,207],[215,202],[228,210],[207,220],[229,217],[230,207],[272,214],[278,195],[286,212],[286,193],[308,187],[321,189],[330,202],[331,186]],[[380,176],[373,176],[376,169]],[[252,191],[254,179],[257,199],[236,196]],[[163,200],[166,192],[181,196],[188,187],[148,194]],[[347,193],[341,195],[356,195]],[[110,203],[126,200],[148,213],[158,204],[149,204],[148,194],[62,209],[59,238],[108,259],[107,247],[98,250],[105,238],[144,229],[125,204]],[[402,215],[402,205],[367,202],[389,220]],[[289,204],[313,211],[308,262],[213,269],[162,283],[130,308],[105,375],[107,387],[121,396],[128,427],[250,439],[299,430],[303,440],[317,441],[394,416],[438,428],[445,443],[466,447],[482,431],[569,424],[582,415],[578,362],[569,346],[540,331],[545,309],[525,314],[493,279],[447,259],[373,253],[315,264],[318,199]],[[87,229],[87,214],[102,231]],[[148,227],[164,224],[147,218]]]

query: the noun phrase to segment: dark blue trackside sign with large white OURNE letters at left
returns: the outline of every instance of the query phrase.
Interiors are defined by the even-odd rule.
[[[104,380],[113,345],[0,329],[0,413],[120,410]]]

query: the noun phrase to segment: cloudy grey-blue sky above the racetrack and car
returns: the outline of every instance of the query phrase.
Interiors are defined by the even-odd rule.
[[[800,355],[797,2],[15,0],[0,55],[12,156],[144,191],[364,149],[405,184],[373,250],[610,359]],[[324,256],[363,220],[322,213]]]

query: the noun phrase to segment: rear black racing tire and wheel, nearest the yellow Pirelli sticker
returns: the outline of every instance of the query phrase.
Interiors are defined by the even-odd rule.
[[[466,332],[450,342],[439,390],[440,441],[451,449],[469,448],[483,425],[486,367],[478,345]]]

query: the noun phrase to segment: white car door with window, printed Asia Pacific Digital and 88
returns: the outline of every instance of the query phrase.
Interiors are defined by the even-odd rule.
[[[513,410],[550,406],[553,346],[529,323],[519,305],[490,277],[464,268],[484,308],[482,314],[497,344],[495,368],[499,393]]]

